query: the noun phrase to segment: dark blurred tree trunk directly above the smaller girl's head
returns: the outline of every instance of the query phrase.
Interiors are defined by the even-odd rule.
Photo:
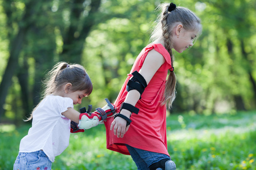
[[[60,59],[71,63],[80,63],[84,50],[85,39],[92,29],[101,0],[73,0],[60,5],[60,12],[70,12],[69,24],[59,25],[63,37],[63,50]],[[86,13],[88,13],[86,15]],[[64,27],[65,26],[65,27]]]

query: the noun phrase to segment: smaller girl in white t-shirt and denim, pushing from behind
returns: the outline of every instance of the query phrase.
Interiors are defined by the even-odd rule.
[[[32,127],[20,141],[13,169],[51,169],[55,156],[69,145],[71,120],[80,123],[80,129],[89,129],[84,128],[86,121],[81,124],[82,116],[87,116],[87,120],[94,118],[97,125],[100,116],[89,117],[73,109],[73,105],[81,104],[82,98],[89,96],[92,89],[89,75],[81,65],[60,62],[49,71],[43,100],[28,119],[33,118]]]

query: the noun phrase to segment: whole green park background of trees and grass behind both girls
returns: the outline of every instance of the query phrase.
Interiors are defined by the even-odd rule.
[[[158,0],[0,0],[0,169],[12,169],[24,123],[56,62],[80,63],[93,92],[76,106],[113,103],[159,14]],[[256,1],[173,1],[200,18],[193,48],[175,54],[177,97],[168,151],[177,169],[256,169]],[[136,169],[106,150],[105,127],[71,134],[53,169]],[[142,144],[143,145],[143,144]]]

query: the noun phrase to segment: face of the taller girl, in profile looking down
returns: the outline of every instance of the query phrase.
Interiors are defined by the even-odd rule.
[[[187,31],[181,24],[177,25],[175,32],[172,36],[174,49],[178,53],[182,53],[184,50],[193,46],[193,40],[195,40],[197,31]]]

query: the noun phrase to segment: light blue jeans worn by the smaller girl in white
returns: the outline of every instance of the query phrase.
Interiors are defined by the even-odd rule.
[[[14,170],[36,169],[50,170],[52,162],[47,155],[42,151],[35,152],[19,152],[15,163]]]

